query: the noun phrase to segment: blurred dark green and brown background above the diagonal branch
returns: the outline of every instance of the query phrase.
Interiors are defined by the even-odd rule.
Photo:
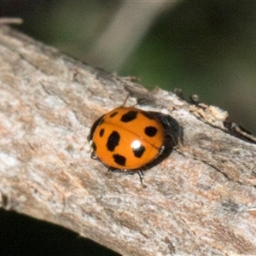
[[[256,1],[0,0],[0,16],[93,67],[196,94],[256,134]]]

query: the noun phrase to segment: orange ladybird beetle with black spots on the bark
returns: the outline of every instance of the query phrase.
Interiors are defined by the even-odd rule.
[[[142,171],[171,154],[176,137],[177,121],[171,116],[122,107],[97,119],[88,140],[92,159],[110,172],[138,173],[143,184]]]

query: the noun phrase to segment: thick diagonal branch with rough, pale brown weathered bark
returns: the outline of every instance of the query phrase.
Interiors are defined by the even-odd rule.
[[[124,102],[169,113],[183,143],[137,175],[90,159],[87,136]],[[256,254],[255,138],[224,111],[149,92],[0,26],[0,206],[123,255]]]

